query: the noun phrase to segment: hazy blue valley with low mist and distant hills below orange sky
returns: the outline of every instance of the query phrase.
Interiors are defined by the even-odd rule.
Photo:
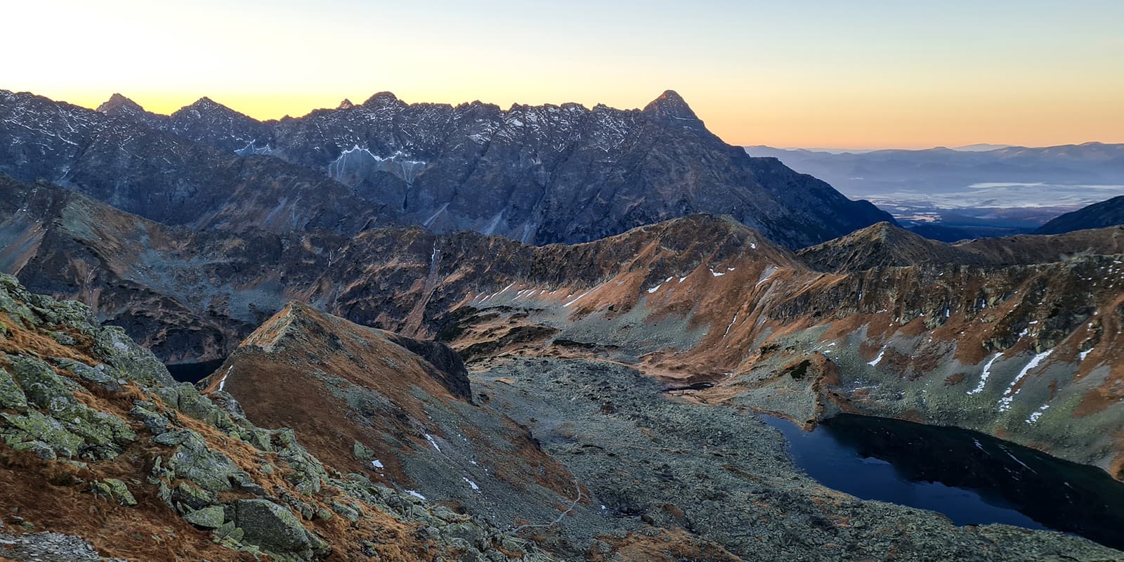
[[[1124,194],[1124,145],[867,152],[747,146],[867,199],[936,239],[1030,233],[1048,220]]]

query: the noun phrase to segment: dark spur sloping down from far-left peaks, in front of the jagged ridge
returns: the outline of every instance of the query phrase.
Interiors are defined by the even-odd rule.
[[[152,121],[132,117],[143,110],[130,102],[115,99],[107,106],[116,111],[0,90],[0,173],[51,181],[196,229],[355,233],[398,218],[303,166],[239,157],[152,128]]]

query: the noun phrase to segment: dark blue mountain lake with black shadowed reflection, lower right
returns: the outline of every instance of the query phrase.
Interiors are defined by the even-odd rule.
[[[844,414],[805,432],[761,417],[828,488],[940,511],[957,525],[1049,528],[1124,549],[1124,483],[1103,470],[953,427]]]

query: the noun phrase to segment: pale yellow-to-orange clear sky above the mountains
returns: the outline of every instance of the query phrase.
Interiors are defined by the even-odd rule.
[[[986,6],[982,6],[986,4]],[[0,88],[257,118],[406,101],[643,107],[728,143],[1124,143],[1124,2],[8,2]],[[13,47],[16,46],[16,47]]]

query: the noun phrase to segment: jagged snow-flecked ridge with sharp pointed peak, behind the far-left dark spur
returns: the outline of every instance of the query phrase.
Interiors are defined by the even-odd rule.
[[[382,92],[265,123],[207,98],[169,117],[138,108],[117,97],[102,106],[227,153],[316,170],[439,232],[575,243],[723,212],[798,247],[892,220],[776,158],[723,143],[672,91],[643,110],[408,105]]]

